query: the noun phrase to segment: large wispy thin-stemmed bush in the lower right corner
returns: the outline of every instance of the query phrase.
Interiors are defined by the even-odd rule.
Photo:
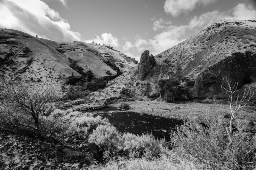
[[[256,136],[247,133],[244,126],[237,124],[237,130],[230,136],[223,115],[208,117],[204,124],[203,127],[193,118],[172,133],[172,147],[180,158],[213,169],[256,161]]]

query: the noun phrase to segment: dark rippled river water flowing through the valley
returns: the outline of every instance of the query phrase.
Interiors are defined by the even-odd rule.
[[[148,114],[139,114],[135,112],[125,112],[114,106],[107,106],[103,109],[91,111],[94,116],[107,118],[117,130],[142,135],[151,133],[158,138],[170,140],[171,129],[174,130],[176,125],[181,125],[183,121],[168,119]]]

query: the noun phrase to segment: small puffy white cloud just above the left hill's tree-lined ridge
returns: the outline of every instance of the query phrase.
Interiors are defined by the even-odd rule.
[[[110,45],[110,46],[114,46],[114,47],[119,46],[118,39],[115,36],[113,36],[111,33],[103,33],[100,36],[99,35],[95,35],[95,36],[96,36],[96,38],[92,38],[90,40],[85,40],[85,42],[92,43],[94,41],[95,43],[100,43],[100,44],[105,43],[106,45]]]

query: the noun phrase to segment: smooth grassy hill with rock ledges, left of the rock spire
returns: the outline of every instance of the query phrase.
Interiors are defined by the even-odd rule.
[[[72,67],[73,64],[73,67]],[[54,42],[12,29],[0,28],[0,73],[30,80],[64,81],[72,73],[92,71],[96,78],[125,72],[137,61],[103,45],[84,42]]]

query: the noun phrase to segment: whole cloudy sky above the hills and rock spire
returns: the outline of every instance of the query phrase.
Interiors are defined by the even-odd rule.
[[[256,0],[0,0],[1,28],[105,43],[138,61],[221,19],[256,20]]]

